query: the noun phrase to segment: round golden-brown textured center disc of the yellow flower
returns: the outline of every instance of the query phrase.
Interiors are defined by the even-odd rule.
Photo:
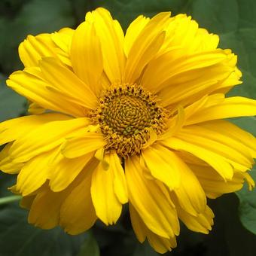
[[[106,90],[91,115],[107,141],[105,151],[115,151],[120,157],[139,154],[152,133],[163,132],[166,116],[156,97],[136,84]]]

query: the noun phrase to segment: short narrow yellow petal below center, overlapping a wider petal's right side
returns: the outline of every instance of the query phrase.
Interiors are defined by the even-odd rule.
[[[104,160],[109,164],[108,172],[113,172],[114,193],[120,203],[128,202],[126,178],[124,175],[121,160],[115,153],[105,154]]]

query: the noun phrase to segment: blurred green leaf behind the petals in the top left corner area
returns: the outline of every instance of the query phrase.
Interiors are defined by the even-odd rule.
[[[27,35],[54,32],[75,25],[69,0],[30,0],[25,2],[14,17],[0,18],[0,68],[9,75],[23,69],[18,46]],[[1,70],[1,69],[0,69]]]

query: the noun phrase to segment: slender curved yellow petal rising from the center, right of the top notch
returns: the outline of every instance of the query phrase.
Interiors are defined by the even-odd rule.
[[[162,46],[165,37],[163,29],[169,20],[169,15],[170,13],[166,12],[154,16],[133,42],[127,57],[124,78],[126,82],[136,82],[136,79],[142,75],[142,70]]]

